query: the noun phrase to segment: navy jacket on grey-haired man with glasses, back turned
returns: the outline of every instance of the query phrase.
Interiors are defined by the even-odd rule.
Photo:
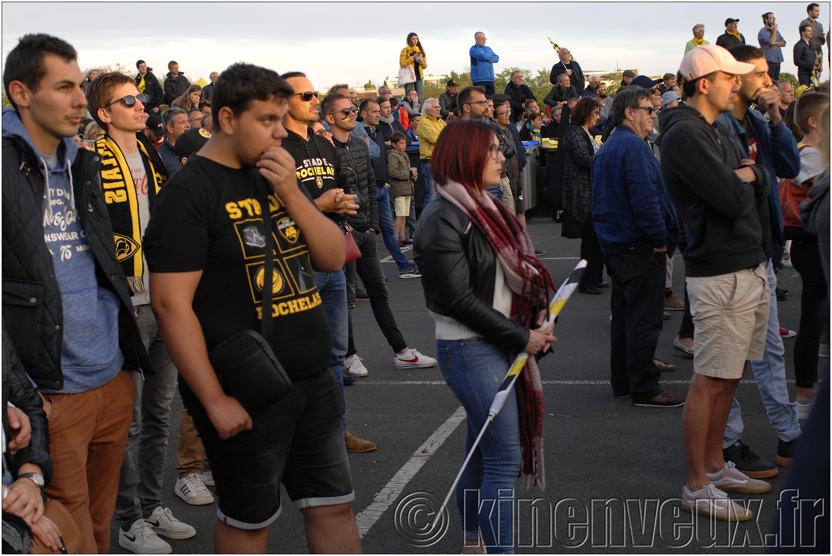
[[[592,159],[592,222],[604,253],[645,243],[676,251],[679,221],[661,166],[629,127],[616,127]]]

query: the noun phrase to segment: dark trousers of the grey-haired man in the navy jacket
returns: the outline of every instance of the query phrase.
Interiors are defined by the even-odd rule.
[[[665,307],[665,253],[645,244],[604,255],[612,282],[610,384],[636,403],[661,394],[653,356]]]

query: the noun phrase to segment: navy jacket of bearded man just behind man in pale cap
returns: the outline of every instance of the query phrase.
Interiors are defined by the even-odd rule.
[[[757,138],[757,164],[765,167],[771,176],[771,191],[769,193],[769,221],[771,225],[771,241],[775,245],[785,246],[783,239],[783,210],[780,207],[780,188],[775,176],[793,178],[800,173],[800,153],[797,144],[785,122],[776,126],[771,125],[760,112],[749,110],[749,122]],[[737,137],[742,132],[736,118],[730,112],[722,112],[716,118],[734,135],[740,151],[748,157],[748,142]]]

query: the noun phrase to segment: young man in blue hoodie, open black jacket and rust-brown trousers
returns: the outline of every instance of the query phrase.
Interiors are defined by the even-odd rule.
[[[107,204],[118,194],[102,190],[102,156],[72,140],[87,98],[70,44],[22,37],[3,85],[14,108],[2,111],[3,318],[45,400],[53,464],[30,486],[67,507],[80,552],[106,554],[133,413],[133,373],[122,371],[152,372],[113,245]]]

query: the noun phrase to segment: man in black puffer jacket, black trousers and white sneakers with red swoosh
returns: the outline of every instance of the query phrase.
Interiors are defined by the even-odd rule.
[[[351,108],[352,103],[349,102],[349,98],[341,94],[330,95],[321,103],[321,114],[329,123],[335,151],[338,151],[340,157],[341,171],[345,174],[344,180],[339,180],[339,182],[349,186],[349,193],[358,195],[358,198],[353,201],[359,205],[357,214],[348,216],[347,222],[353,228],[352,236],[361,251],[361,257],[347,263],[347,299],[355,299],[355,274],[357,272],[367,288],[375,321],[379,324],[387,343],[393,348],[395,367],[397,369],[430,367],[436,365],[436,360],[420,354],[415,349],[409,349],[404,336],[399,331],[399,325],[396,325],[393,311],[390,310],[389,291],[384,281],[384,271],[381,268],[379,251],[375,242],[375,235],[380,231],[379,206],[374,187],[375,174],[370,164],[367,145],[349,133],[355,128],[355,112],[352,112]],[[353,376],[367,375],[367,370],[355,350],[351,311],[349,313],[349,349],[344,359],[344,368]]]

